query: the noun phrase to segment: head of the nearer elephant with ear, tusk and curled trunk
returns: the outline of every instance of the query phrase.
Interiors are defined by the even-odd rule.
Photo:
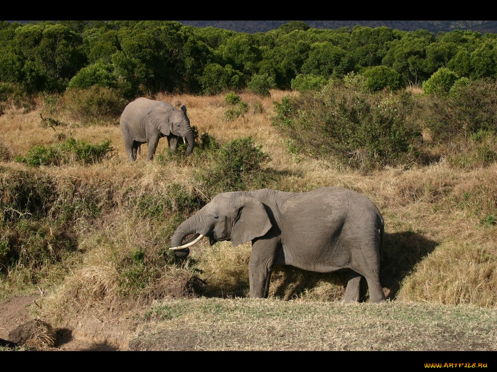
[[[181,223],[171,237],[171,247],[179,257],[201,238],[208,237],[211,246],[220,241],[231,241],[233,247],[261,237],[271,228],[264,205],[257,199],[239,192],[218,194],[200,211]],[[193,238],[181,245],[184,238]]]

